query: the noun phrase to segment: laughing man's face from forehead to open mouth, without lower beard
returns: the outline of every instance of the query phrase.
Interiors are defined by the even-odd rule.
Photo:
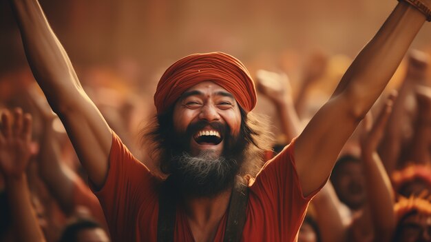
[[[198,156],[202,151],[220,157],[227,136],[238,137],[241,114],[233,95],[211,81],[185,91],[174,106],[174,130],[185,134],[185,151]]]

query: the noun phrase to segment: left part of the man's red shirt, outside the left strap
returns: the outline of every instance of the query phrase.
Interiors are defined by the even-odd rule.
[[[158,202],[159,185],[160,179],[151,174],[112,132],[109,170],[105,184],[101,190],[96,190],[90,183],[90,188],[98,197],[105,212],[112,241],[135,240],[136,233],[140,230],[136,228],[136,221],[140,214],[142,215],[140,208],[152,210]]]

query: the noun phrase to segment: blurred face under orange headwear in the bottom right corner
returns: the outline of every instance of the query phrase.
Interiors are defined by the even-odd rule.
[[[398,229],[397,242],[431,241],[431,216],[415,212],[403,219]]]

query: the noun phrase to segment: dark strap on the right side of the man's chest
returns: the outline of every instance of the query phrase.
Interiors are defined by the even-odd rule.
[[[249,202],[249,188],[239,185],[232,191],[229,203],[229,214],[227,214],[226,230],[223,242],[239,242],[246,221],[246,208]]]

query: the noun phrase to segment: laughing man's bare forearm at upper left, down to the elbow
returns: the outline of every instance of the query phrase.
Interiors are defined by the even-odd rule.
[[[54,107],[57,100],[72,98],[72,90],[81,84],[59,39],[50,28],[41,6],[34,0],[11,0],[20,28],[25,55],[30,68],[48,101]],[[45,80],[56,81],[45,81]]]

